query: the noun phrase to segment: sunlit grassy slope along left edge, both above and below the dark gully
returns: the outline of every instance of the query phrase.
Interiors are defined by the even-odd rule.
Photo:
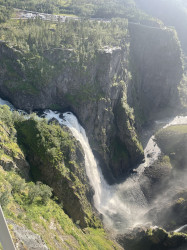
[[[17,116],[17,114],[16,114]],[[0,160],[7,157],[23,156],[17,144],[16,130],[12,114],[8,107],[0,107]],[[6,164],[5,164],[6,165]],[[25,182],[17,171],[5,171],[0,166],[0,203],[3,205],[6,218],[25,225],[28,229],[42,236],[50,249],[118,249],[108,239],[103,229],[86,228],[82,231],[64,213],[63,205],[57,198],[42,203],[41,196],[29,199],[29,187],[33,182]],[[2,196],[4,195],[4,196]],[[3,198],[4,197],[4,198]]]

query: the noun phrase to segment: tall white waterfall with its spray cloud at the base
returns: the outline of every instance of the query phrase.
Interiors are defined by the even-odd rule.
[[[45,115],[47,119],[54,117],[60,124],[69,127],[74,137],[80,141],[85,153],[86,173],[95,191],[94,205],[104,216],[107,226],[120,231],[133,226],[147,206],[137,181],[138,175],[128,178],[123,184],[108,185],[90,148],[85,130],[77,118],[71,112],[64,113],[63,118],[52,111],[45,111]]]

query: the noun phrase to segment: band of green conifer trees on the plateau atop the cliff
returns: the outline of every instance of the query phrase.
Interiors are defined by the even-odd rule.
[[[69,20],[64,23],[50,23],[40,19],[9,20],[1,24],[0,30],[0,38],[22,53],[41,55],[48,49],[73,49],[79,53],[79,60],[83,60],[103,46],[119,46],[127,37],[127,20],[114,19],[111,23],[86,20]]]

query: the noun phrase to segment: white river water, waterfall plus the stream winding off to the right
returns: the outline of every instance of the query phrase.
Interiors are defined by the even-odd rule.
[[[8,101],[0,99],[0,104],[6,104],[11,109],[14,109]],[[147,139],[146,145],[144,145],[145,162],[140,164],[136,172],[131,174],[123,183],[109,185],[105,181],[99,163],[93,155],[86,132],[79,124],[75,115],[71,112],[60,114],[55,111],[45,110],[42,117],[45,117],[47,120],[57,119],[60,124],[67,126],[73,136],[80,141],[85,153],[86,173],[95,191],[93,197],[94,205],[99,213],[103,215],[106,227],[123,233],[128,228],[144,223],[142,218],[148,211],[149,205],[141,190],[139,180],[144,169],[157,160],[161,154],[159,147],[154,141],[153,130],[147,131],[149,139]],[[187,124],[187,117],[178,116],[155,122],[157,128],[174,124]],[[154,131],[156,130],[154,129]]]

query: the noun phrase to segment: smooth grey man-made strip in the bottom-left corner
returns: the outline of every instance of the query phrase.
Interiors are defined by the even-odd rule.
[[[9,233],[8,226],[1,206],[0,206],[0,242],[3,246],[3,250],[15,250],[14,243]]]

